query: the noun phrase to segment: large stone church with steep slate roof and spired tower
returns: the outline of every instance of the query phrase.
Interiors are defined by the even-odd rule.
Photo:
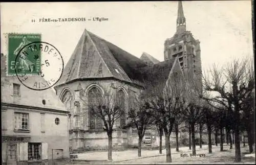
[[[143,91],[146,79],[157,78],[166,82],[174,70],[180,70],[184,77],[201,79],[200,42],[190,31],[186,31],[182,3],[178,3],[177,31],[164,43],[164,61],[147,53],[141,58],[118,48],[118,46],[84,30],[69,59],[63,74],[54,87],[57,96],[70,111],[69,133],[72,150],[101,149],[108,146],[108,136],[102,128],[102,120],[93,116],[88,103],[96,102],[104,88],[117,90],[122,106],[129,110],[129,98],[137,97]],[[151,76],[146,76],[146,75]],[[155,76],[154,76],[155,75]],[[126,117],[116,122],[113,132],[113,147],[133,147],[138,136],[133,128],[122,129]],[[182,136],[182,135],[179,135]],[[175,134],[172,135],[175,139]],[[157,147],[159,136],[154,127],[148,128],[143,139],[144,146]],[[163,141],[164,142],[164,141]]]

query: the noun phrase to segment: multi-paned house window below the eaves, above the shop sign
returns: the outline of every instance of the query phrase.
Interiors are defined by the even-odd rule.
[[[14,112],[15,130],[29,130],[29,114]]]

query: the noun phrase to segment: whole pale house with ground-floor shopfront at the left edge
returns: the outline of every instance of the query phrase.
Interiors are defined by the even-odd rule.
[[[1,55],[2,164],[69,158],[68,111],[54,90],[32,90],[6,76]]]

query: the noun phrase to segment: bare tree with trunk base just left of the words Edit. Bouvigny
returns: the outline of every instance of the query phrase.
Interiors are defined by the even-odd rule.
[[[155,80],[163,79],[158,77]],[[172,162],[170,134],[183,106],[184,90],[185,81],[181,71],[172,73],[166,82],[158,83],[157,85],[150,83],[146,90],[150,107],[154,112],[153,116],[163,128],[165,135],[166,162]]]

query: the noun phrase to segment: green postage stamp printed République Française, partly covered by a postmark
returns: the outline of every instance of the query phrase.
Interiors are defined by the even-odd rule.
[[[39,41],[41,41],[40,34],[8,34],[8,75],[37,75],[40,72],[40,49],[38,49],[37,53],[35,54],[32,47],[26,46],[32,42]]]

